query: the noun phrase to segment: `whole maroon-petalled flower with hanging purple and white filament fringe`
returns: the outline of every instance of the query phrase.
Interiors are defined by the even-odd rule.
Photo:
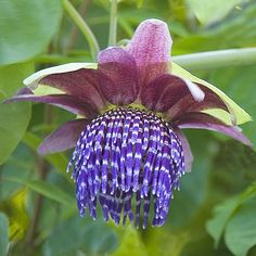
[[[246,145],[251,142],[234,124],[226,124],[209,110],[235,114],[221,93],[170,72],[171,38],[164,22],[148,20],[126,48],[107,48],[93,64],[67,64],[34,74],[27,88],[10,101],[43,102],[80,118],[48,136],[39,153],[75,148],[73,169],[80,215],[97,203],[105,220],[120,218],[162,226],[172,191],[190,171],[192,154],[183,128],[209,129]],[[40,88],[53,88],[42,95]],[[34,94],[35,93],[35,94]],[[77,141],[78,140],[78,141]]]

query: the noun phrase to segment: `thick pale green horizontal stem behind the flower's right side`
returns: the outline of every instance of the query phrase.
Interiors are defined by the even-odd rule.
[[[191,71],[248,65],[256,62],[256,48],[184,54],[174,56],[172,61]]]

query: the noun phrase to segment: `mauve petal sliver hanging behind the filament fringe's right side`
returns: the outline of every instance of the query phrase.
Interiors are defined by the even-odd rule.
[[[192,163],[194,161],[194,157],[192,155],[189,141],[187,140],[185,136],[183,135],[183,132],[180,129],[176,128],[175,133],[180,139],[181,145],[182,145],[182,149],[184,152],[184,169],[187,172],[190,172],[192,169]]]

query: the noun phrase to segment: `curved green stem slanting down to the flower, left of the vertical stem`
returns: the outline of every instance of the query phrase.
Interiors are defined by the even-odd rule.
[[[89,47],[90,47],[90,52],[93,57],[93,60],[97,60],[98,52],[100,51],[98,41],[91,31],[90,27],[87,25],[87,23],[82,20],[80,14],[76,11],[76,9],[72,5],[72,3],[68,0],[63,0],[63,8],[65,11],[68,13],[71,18],[75,22],[75,24],[79,27],[81,33],[85,35]]]

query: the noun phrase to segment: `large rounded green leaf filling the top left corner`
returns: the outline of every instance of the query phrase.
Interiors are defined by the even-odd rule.
[[[44,51],[61,16],[60,0],[1,1],[0,65],[23,62]]]

